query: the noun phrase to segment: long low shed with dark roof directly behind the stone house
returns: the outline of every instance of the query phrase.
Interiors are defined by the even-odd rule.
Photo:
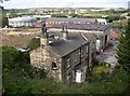
[[[110,27],[109,25],[100,24],[63,24],[67,26],[68,31],[75,32],[91,32],[96,36],[96,52],[104,50],[110,40]],[[53,25],[48,27],[49,31],[61,30],[63,25]]]

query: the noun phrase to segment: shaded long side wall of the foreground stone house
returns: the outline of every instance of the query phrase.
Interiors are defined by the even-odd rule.
[[[86,45],[82,45],[81,46],[81,50],[82,50],[82,57],[81,57],[81,60],[80,60],[80,49],[77,49],[75,50],[73,53],[66,55],[65,57],[63,57],[63,67],[62,67],[62,73],[63,73],[63,80],[64,82],[67,82],[67,76],[69,74],[70,76],[70,81],[69,82],[73,82],[73,73],[74,73],[74,68],[80,64],[81,61],[81,65],[88,67],[88,59],[89,58],[89,55],[88,55],[88,43]],[[67,68],[66,66],[66,61],[67,59],[70,58],[70,66]]]

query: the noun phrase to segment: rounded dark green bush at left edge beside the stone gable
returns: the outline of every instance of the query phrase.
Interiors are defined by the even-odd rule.
[[[4,69],[24,68],[29,60],[29,53],[23,53],[13,46],[2,46],[2,67]]]

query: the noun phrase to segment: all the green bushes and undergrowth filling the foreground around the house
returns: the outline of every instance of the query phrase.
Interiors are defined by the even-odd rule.
[[[115,69],[110,74],[105,63],[99,63],[88,73],[86,83],[63,84],[46,78],[43,70],[31,69],[28,54],[17,53],[15,49],[3,50],[2,88],[5,94],[130,94],[130,74],[122,69]],[[6,61],[6,57],[11,61]],[[16,61],[11,59],[15,57]]]

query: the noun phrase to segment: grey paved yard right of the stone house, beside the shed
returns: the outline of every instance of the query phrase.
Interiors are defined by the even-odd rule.
[[[114,68],[117,65],[117,58],[115,56],[116,56],[116,46],[118,41],[110,41],[110,42],[114,44],[114,46],[109,46],[104,52],[96,55],[96,59],[99,61],[106,61],[110,64],[110,66]]]

